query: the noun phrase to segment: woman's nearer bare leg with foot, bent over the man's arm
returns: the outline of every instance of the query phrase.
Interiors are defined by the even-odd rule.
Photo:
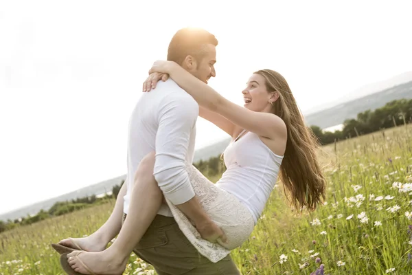
[[[95,274],[122,274],[130,253],[155,219],[163,193],[153,176],[154,166],[154,152],[141,160],[135,175],[129,212],[113,245],[102,252],[83,252],[78,256]],[[76,272],[90,274],[75,257],[77,254],[72,252],[67,255],[69,264]]]

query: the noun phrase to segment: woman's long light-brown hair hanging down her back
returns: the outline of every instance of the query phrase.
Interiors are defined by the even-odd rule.
[[[284,184],[286,197],[295,208],[312,211],[325,199],[326,180],[317,159],[319,143],[314,133],[304,123],[295,97],[285,78],[271,70],[262,69],[269,93],[277,92],[279,98],[273,102],[275,115],[282,118],[288,131],[286,151],[280,166],[279,178]]]

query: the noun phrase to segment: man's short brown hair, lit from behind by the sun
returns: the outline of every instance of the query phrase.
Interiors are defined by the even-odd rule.
[[[181,65],[186,56],[201,60],[205,55],[205,45],[218,45],[216,37],[201,28],[183,28],[174,34],[168,49],[168,61]]]

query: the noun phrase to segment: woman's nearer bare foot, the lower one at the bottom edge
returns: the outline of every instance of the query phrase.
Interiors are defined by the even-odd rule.
[[[73,251],[67,254],[71,268],[81,274],[117,275],[126,270],[128,258],[114,253],[110,249],[102,252]]]

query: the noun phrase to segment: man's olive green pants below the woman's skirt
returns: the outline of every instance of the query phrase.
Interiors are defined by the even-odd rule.
[[[155,267],[159,275],[240,275],[230,254],[212,263],[187,240],[174,218],[159,214],[133,252]]]

